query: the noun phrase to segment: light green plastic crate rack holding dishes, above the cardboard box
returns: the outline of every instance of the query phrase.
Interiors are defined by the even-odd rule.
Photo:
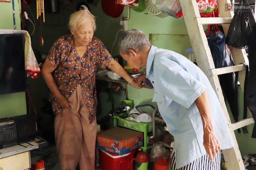
[[[125,119],[128,117],[128,114],[129,112],[126,112],[126,113],[121,113],[114,116],[114,127],[119,125],[128,129],[143,132],[144,148],[147,148],[147,133],[153,131],[152,122],[142,123],[142,122],[129,121]],[[159,125],[160,123],[161,123],[160,121],[156,121],[156,126]]]

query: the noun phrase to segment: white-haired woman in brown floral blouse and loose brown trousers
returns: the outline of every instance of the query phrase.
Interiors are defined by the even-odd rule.
[[[70,15],[71,34],[60,37],[50,49],[42,75],[50,88],[55,117],[54,132],[61,170],[94,170],[96,123],[95,72],[97,66],[117,72],[133,87],[141,88],[112,59],[93,36],[95,17],[85,6]]]

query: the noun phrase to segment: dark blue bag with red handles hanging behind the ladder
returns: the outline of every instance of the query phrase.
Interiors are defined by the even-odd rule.
[[[206,30],[208,45],[211,50],[215,68],[227,67],[231,65],[228,47],[225,43],[226,37],[220,31],[217,24],[209,24]]]

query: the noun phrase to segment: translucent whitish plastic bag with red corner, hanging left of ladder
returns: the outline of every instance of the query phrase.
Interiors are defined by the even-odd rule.
[[[177,19],[183,16],[180,0],[156,0],[156,7],[161,12]]]

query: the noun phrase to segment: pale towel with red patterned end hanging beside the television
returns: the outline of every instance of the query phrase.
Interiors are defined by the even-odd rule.
[[[36,61],[35,54],[31,47],[31,39],[28,31],[25,32],[25,70],[27,71],[27,77],[31,76],[31,78],[38,77],[40,73],[40,67]]]

